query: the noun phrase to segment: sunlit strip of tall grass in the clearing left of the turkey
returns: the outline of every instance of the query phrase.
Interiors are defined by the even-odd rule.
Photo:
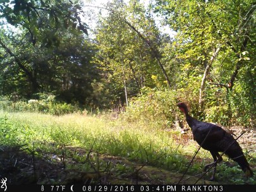
[[[3,112],[0,116],[4,116]],[[94,143],[94,150],[99,153],[119,155],[138,162],[146,162],[148,159],[154,165],[164,165],[168,169],[180,169],[187,162],[183,158],[184,148],[161,129],[79,114],[51,116],[14,112],[7,116],[11,126],[20,131],[19,140],[27,142],[30,147],[47,141],[55,145],[73,145],[88,149]],[[161,159],[154,161],[161,155]]]

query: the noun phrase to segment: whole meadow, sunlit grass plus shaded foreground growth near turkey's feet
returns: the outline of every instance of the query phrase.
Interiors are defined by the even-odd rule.
[[[131,122],[122,117],[113,118],[111,114],[96,116],[75,113],[53,116],[38,112],[2,111],[0,117],[4,133],[1,145],[25,145],[23,151],[32,154],[32,157],[47,159],[52,163],[58,162],[68,172],[79,170],[83,175],[86,174],[82,180],[89,178],[90,182],[94,183],[99,182],[100,172],[104,172],[104,175],[111,172],[112,175],[121,175],[122,179],[127,180],[131,173],[139,174],[146,166],[168,171],[170,175],[171,172],[182,174],[198,149],[197,143],[190,135],[183,135],[172,128],[163,129],[155,123],[139,120]],[[107,162],[110,157],[112,160]],[[256,164],[255,157],[255,150],[247,154],[252,167]],[[113,158],[121,158],[121,162],[129,163],[116,163]],[[231,165],[221,164],[217,167],[218,183],[256,183],[255,176],[246,179],[235,162],[227,158],[224,160],[229,161]],[[209,162],[212,162],[210,153],[201,149],[188,169],[187,177],[198,174],[200,176],[204,165]],[[88,173],[97,176],[88,176]],[[211,172],[206,174],[205,179],[210,177],[210,174]],[[177,177],[181,175],[162,182],[175,183],[179,179]],[[41,179],[39,183],[63,181],[61,176],[54,178]],[[143,179],[137,179],[137,182],[138,180]],[[116,180],[111,182],[118,183]],[[119,179],[120,182],[135,181]],[[157,183],[157,178],[155,181],[151,178],[149,182]]]

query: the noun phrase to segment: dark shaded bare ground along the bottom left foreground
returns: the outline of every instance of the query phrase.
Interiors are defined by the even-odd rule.
[[[4,150],[4,151],[3,151]],[[73,149],[74,150],[74,149]],[[76,148],[83,155],[87,152]],[[121,157],[100,155],[99,158],[110,165],[111,170],[102,172],[83,172],[66,169],[61,155],[50,155],[45,159],[34,157],[19,148],[3,148],[0,153],[0,177],[8,178],[8,184],[176,184],[182,174],[166,171],[149,165],[136,164]],[[51,158],[50,158],[51,156]],[[54,158],[54,159],[52,159]],[[66,159],[68,163],[70,159]],[[73,162],[76,164],[77,162]],[[116,167],[123,167],[116,169]],[[180,184],[193,184],[198,177],[184,176]],[[186,180],[188,179],[188,180]],[[183,181],[184,180],[184,181]],[[203,179],[197,184],[211,184]]]

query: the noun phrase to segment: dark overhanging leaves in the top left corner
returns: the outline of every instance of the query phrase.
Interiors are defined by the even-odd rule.
[[[5,18],[9,24],[15,27],[21,25],[23,30],[28,30],[31,36],[40,41],[43,39],[45,27],[56,30],[70,28],[87,34],[87,25],[81,21],[79,16],[82,7],[78,3],[56,0],[15,0],[10,4],[3,4],[0,12],[3,13],[1,17]],[[34,33],[35,31],[40,31],[40,33]]]

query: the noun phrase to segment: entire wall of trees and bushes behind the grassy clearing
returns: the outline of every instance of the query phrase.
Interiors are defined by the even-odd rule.
[[[0,95],[253,126],[255,1],[143,2],[1,1]]]

